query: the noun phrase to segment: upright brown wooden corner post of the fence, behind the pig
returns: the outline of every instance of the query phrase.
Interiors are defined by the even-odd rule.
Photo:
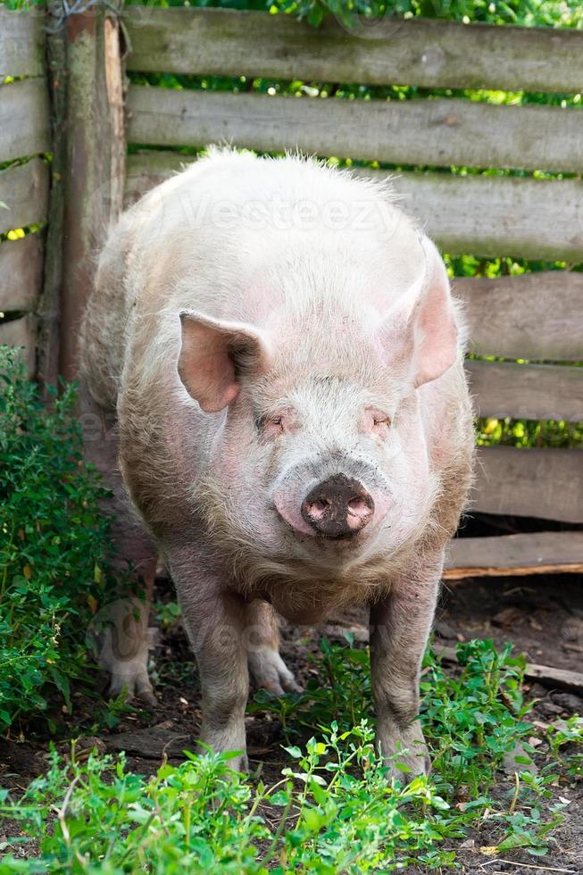
[[[77,376],[79,322],[96,249],[122,207],[125,170],[119,21],[101,7],[66,21],[66,162],[62,236],[60,372]]]

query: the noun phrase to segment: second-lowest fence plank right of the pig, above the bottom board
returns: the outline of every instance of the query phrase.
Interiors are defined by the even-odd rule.
[[[481,447],[471,509],[583,522],[583,450]]]

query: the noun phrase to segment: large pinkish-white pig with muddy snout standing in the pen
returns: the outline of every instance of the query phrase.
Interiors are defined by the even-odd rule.
[[[463,344],[444,262],[387,182],[215,148],[112,229],[82,379],[116,418],[133,559],[159,552],[178,592],[200,737],[234,768],[249,679],[299,688],[279,617],[362,605],[379,752],[428,770],[421,659],[471,485]],[[114,690],[151,696],[146,658],[113,664]]]

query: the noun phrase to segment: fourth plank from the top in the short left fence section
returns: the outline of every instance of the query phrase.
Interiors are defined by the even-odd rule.
[[[30,310],[37,303],[43,276],[43,235],[0,243],[0,311]]]

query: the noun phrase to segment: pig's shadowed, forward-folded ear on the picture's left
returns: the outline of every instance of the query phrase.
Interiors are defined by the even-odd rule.
[[[181,312],[180,324],[179,378],[206,413],[216,413],[235,400],[242,373],[261,373],[269,367],[268,337],[246,322]]]

